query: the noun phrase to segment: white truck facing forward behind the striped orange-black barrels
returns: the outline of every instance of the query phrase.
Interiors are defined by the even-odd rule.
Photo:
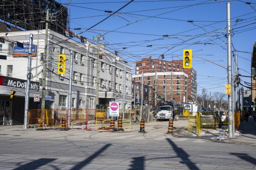
[[[163,105],[158,107],[156,114],[157,121],[168,119],[172,120],[174,116],[174,107],[172,105]]]

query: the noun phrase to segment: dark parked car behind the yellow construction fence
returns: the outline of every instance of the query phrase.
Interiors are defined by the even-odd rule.
[[[222,121],[219,114],[214,111],[206,111],[201,113],[201,128],[221,128]]]

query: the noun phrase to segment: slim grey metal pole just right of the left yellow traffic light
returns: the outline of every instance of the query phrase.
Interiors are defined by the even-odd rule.
[[[72,109],[72,82],[73,82],[73,61],[74,61],[74,51],[70,52],[70,72],[69,72],[69,110],[68,110],[68,126],[70,126],[70,116]]]

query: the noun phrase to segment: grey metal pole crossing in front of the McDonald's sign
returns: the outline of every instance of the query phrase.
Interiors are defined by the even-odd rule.
[[[28,55],[28,74],[27,74],[27,85],[26,85],[26,95],[25,95],[24,129],[28,128],[29,91],[30,91],[30,79],[31,79],[32,45],[33,45],[33,34],[30,34],[30,36],[29,36],[29,55]]]

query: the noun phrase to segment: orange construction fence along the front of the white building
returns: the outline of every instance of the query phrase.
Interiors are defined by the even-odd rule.
[[[134,122],[136,110],[119,110],[119,116],[122,118],[124,129],[131,131],[131,123]],[[70,126],[68,109],[52,109],[45,110],[43,114],[41,109],[29,110],[28,124],[29,127],[37,127],[38,119],[42,119],[45,128],[58,129],[61,128],[61,118],[66,118],[66,127],[71,129],[85,129],[85,130],[107,130],[110,128],[110,119],[114,118],[116,121],[118,117],[109,116],[108,109],[72,109],[70,113]]]

